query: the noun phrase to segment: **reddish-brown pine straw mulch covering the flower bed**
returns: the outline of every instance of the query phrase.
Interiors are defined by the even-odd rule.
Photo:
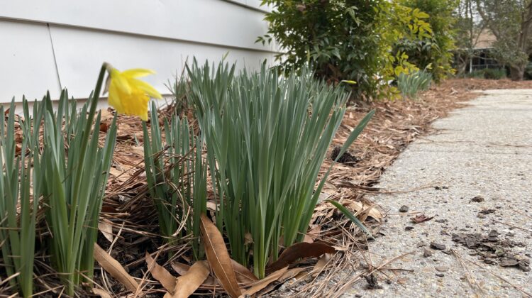
[[[350,106],[338,130],[331,151],[334,146],[342,145],[350,131],[355,128],[358,121],[368,111],[376,109],[377,112],[350,148],[353,158],[344,164],[336,163],[328,178],[328,183],[323,189],[323,197],[336,199],[344,206],[357,211],[359,219],[365,221],[375,235],[384,211],[372,202],[365,199],[365,194],[385,192],[374,185],[380,175],[394,162],[399,153],[419,136],[432,131],[431,123],[437,118],[448,114],[449,111],[462,106],[461,101],[472,99],[477,94],[469,91],[472,89],[501,89],[501,88],[532,88],[532,82],[511,82],[507,80],[488,81],[483,79],[450,79],[437,87],[431,88],[422,94],[418,101],[377,101],[360,103]],[[161,111],[160,119],[172,114],[173,106]],[[101,131],[105,132],[111,123],[112,114],[104,111],[102,115]],[[102,133],[103,135],[105,133]],[[104,136],[101,136],[103,141]],[[323,163],[322,172],[333,163],[331,158]],[[165,291],[151,276],[146,275],[145,251],[155,256],[160,250],[172,251],[172,259],[159,258],[158,263],[166,261],[165,267],[177,276],[172,270],[172,262],[192,264],[191,252],[187,239],[182,243],[168,248],[162,245],[163,241],[158,236],[157,214],[150,198],[143,172],[143,133],[138,118],[119,116],[117,146],[114,153],[111,176],[106,190],[106,198],[101,212],[101,222],[113,226],[113,243],[104,238],[100,233],[99,245],[116,258],[126,270],[138,277],[140,282],[143,277],[143,293],[155,294],[162,297]],[[361,202],[362,204],[355,202]],[[212,204],[209,205],[212,209]],[[362,209],[357,206],[363,206]],[[302,260],[292,267],[305,268],[294,277],[276,282],[266,287],[259,294],[270,296],[284,296],[289,289],[305,296],[336,297],[349,289],[350,284],[362,279],[362,276],[353,277],[352,270],[367,264],[366,274],[375,270],[382,270],[385,264],[372,265],[371,254],[365,235],[350,221],[328,203],[321,202],[316,207],[314,217],[309,227],[307,241],[325,241],[330,243],[338,252],[326,264],[316,266],[317,260]],[[40,237],[47,235],[43,227]],[[161,254],[165,255],[165,254]],[[170,254],[167,254],[170,255]],[[43,250],[36,253],[35,261],[35,286],[36,292],[48,291],[50,296],[57,296],[62,292],[57,274],[47,265],[50,259],[44,255]],[[323,264],[322,264],[323,265]],[[307,269],[308,268],[308,269]],[[381,268],[381,269],[379,269]],[[0,296],[9,293],[5,278],[0,271]],[[4,273],[5,274],[5,273]],[[96,269],[95,280],[98,287],[105,289],[112,296],[126,297],[128,291],[109,276],[104,270]],[[348,283],[349,282],[349,283]],[[279,289],[279,287],[281,287]],[[223,289],[219,285],[203,285],[197,294],[220,294]],[[78,292],[79,296],[89,293]],[[153,296],[152,296],[153,297]]]

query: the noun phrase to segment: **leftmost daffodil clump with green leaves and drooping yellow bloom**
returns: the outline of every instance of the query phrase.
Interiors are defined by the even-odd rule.
[[[94,243],[116,142],[116,116],[99,146],[101,113],[96,105],[108,75],[109,104],[118,113],[148,120],[150,97],[161,95],[138,77],[151,70],[119,72],[104,63],[94,92],[81,109],[63,90],[54,109],[50,94],[33,103],[23,99],[23,119],[14,114],[0,125],[0,243],[11,286],[21,296],[33,294],[36,214],[43,209],[50,238],[42,245],[60,273],[65,292],[74,296],[80,282],[92,283]],[[4,108],[0,107],[4,115]],[[15,123],[23,138],[18,148]],[[40,140],[40,131],[43,138]],[[42,143],[41,143],[42,142]],[[18,208],[20,206],[20,208]],[[18,219],[20,216],[20,219]],[[6,220],[4,220],[6,219]],[[18,275],[15,275],[18,273]]]

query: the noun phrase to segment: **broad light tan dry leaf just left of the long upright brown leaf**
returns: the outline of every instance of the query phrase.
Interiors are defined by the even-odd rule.
[[[209,276],[209,265],[206,261],[198,261],[184,275],[177,277],[172,298],[189,297],[203,284]]]

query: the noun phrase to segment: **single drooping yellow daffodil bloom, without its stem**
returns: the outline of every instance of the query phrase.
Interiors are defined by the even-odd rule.
[[[136,79],[153,75],[153,70],[133,69],[123,72],[108,67],[109,105],[120,114],[139,116],[148,120],[148,103],[150,97],[161,99],[162,96],[150,84]]]

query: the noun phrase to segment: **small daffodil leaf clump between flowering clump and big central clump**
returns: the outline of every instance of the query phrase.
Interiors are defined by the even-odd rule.
[[[151,109],[151,140],[143,123],[146,180],[155,202],[162,236],[169,243],[182,235],[193,236],[192,250],[199,259],[199,216],[206,211],[206,166],[201,160],[201,139],[194,136],[187,118],[174,114],[165,119],[165,144],[157,118],[157,106]],[[165,154],[166,153],[166,154]],[[178,206],[180,210],[178,211]],[[192,210],[193,216],[188,216]],[[182,224],[182,223],[186,223]]]

